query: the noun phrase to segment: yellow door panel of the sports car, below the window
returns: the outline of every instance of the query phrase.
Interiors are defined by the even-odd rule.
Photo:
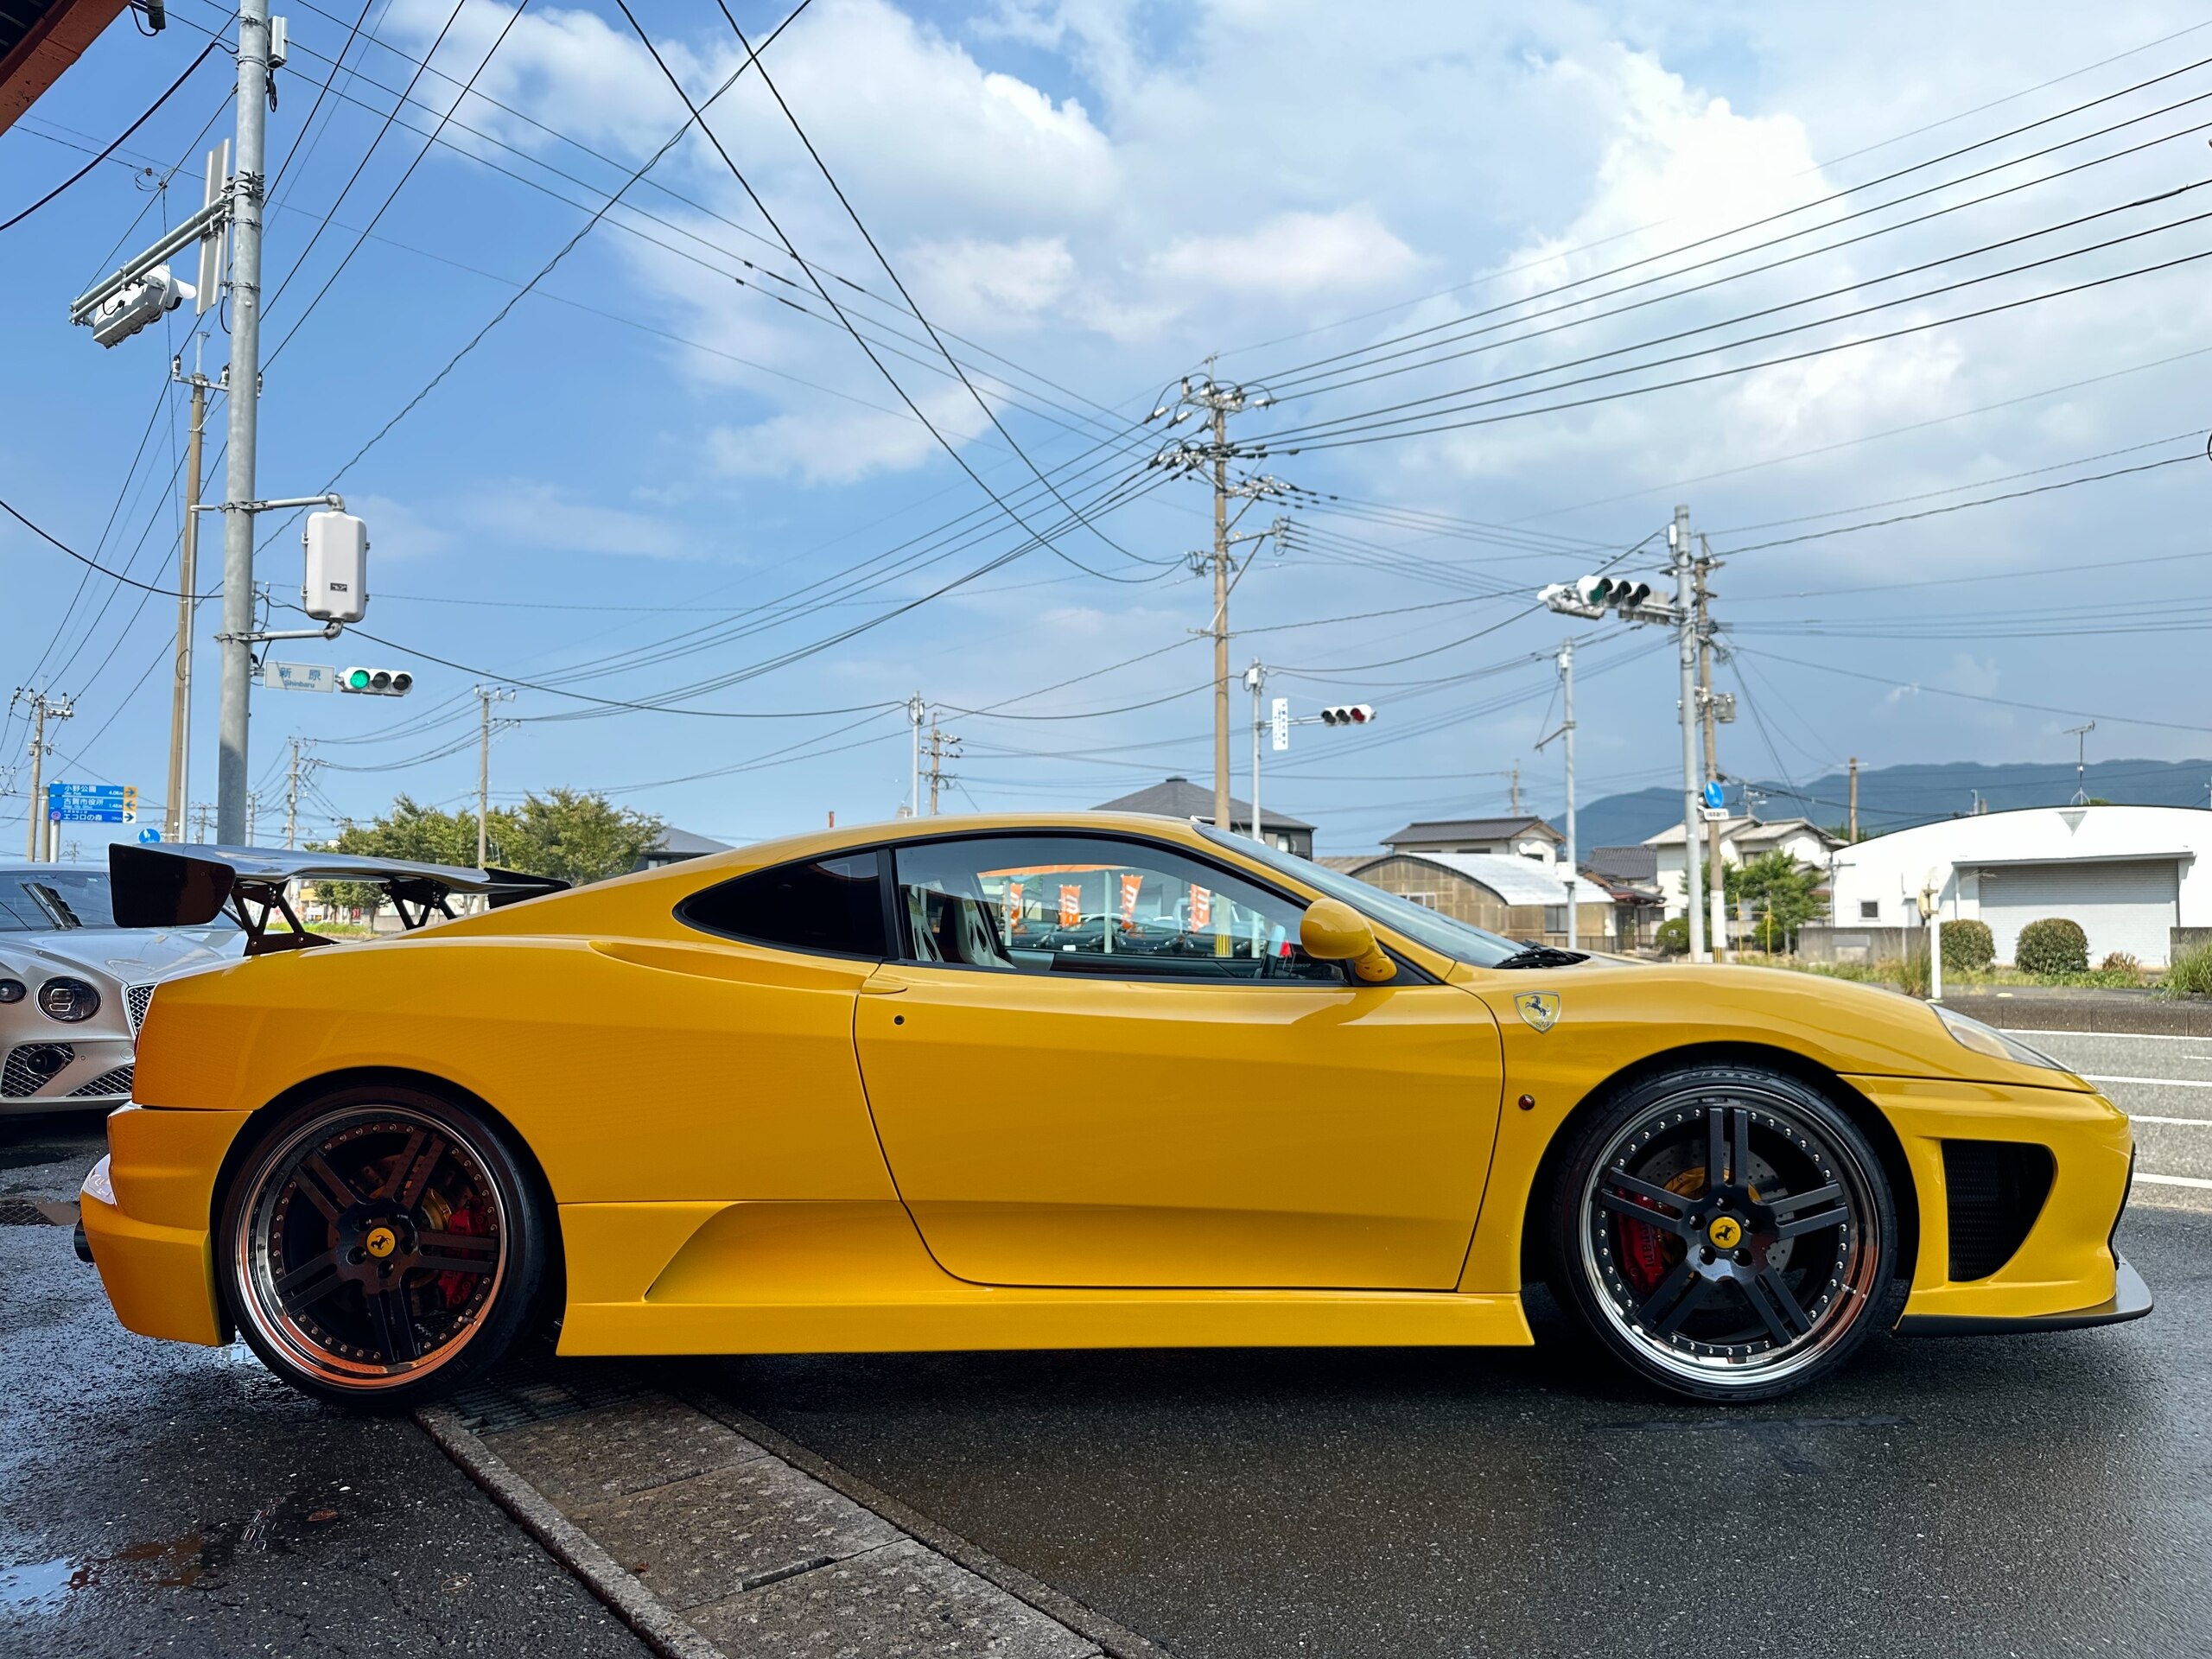
[[[1498,1029],[1444,984],[883,969],[856,1040],[938,1263],[987,1285],[1449,1287]]]

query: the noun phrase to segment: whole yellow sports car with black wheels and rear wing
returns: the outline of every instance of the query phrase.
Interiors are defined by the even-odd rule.
[[[1801,973],[1515,945],[1206,825],[927,818],[577,891],[113,849],[230,907],[84,1183],[124,1325],[343,1402],[562,1354],[1528,1343],[1705,1400],[2150,1312],[2128,1119]],[[383,883],[372,945],[288,887]],[[451,894],[491,909],[436,920]],[[524,900],[524,902],[511,902]]]

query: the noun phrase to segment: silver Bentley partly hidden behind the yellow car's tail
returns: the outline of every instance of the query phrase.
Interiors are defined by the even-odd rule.
[[[153,989],[243,949],[228,914],[117,927],[100,865],[0,863],[0,1115],[122,1106]]]

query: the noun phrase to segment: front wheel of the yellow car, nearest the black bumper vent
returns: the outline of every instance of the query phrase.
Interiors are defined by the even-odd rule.
[[[1896,1325],[1902,1248],[1867,1137],[1820,1091],[1759,1066],[1624,1088],[1575,1130],[1548,1201],[1562,1305],[1615,1360],[1692,1400],[1772,1400],[1834,1376]]]

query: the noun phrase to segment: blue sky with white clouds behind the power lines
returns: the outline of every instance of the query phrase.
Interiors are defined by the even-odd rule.
[[[1144,467],[1190,427],[1141,418],[1214,352],[1279,398],[1239,436],[1303,431],[1254,471],[1314,491],[1245,522],[1298,529],[1241,580],[1232,659],[1263,657],[1296,712],[1383,710],[1270,757],[1267,803],[1316,821],[1323,852],[1502,810],[1515,765],[1555,807],[1557,750],[1533,743],[1568,624],[1526,595],[1646,542],[1677,500],[1717,551],[1745,549],[1717,577],[1745,706],[1730,772],[2070,759],[2086,714],[2106,759],[2212,752],[2188,630],[2212,597],[2212,480],[2181,462],[2208,425],[2205,265],[2128,274],[2212,250],[2192,188],[2212,100],[2188,102],[2212,93],[2190,69],[2212,27],[2183,7],[814,0],[763,62],[874,248],[743,77],[708,126],[759,204],[690,133],[352,462],[686,113],[613,4],[369,0],[349,46],[349,0],[279,9],[259,489],[336,476],[374,538],[363,628],[389,644],[276,650],[418,675],[405,701],[254,692],[263,796],[290,737],[321,763],[310,832],[398,790],[473,799],[480,681],[518,688],[495,796],[608,790],[728,841],[889,816],[916,690],[962,739],[953,807],[1203,781],[1208,595],[1181,555],[1208,495]],[[714,7],[635,11],[692,97],[741,60]],[[754,40],[781,18],[732,11]],[[111,29],[0,137],[0,217],[221,27],[177,0],[161,38]],[[175,571],[184,403],[164,385],[190,312],[104,352],[66,301],[197,206],[223,75],[217,53],[117,161],[4,232],[0,493],[150,582]],[[1683,376],[1710,378],[1639,389]],[[1422,398],[1513,418],[1358,420]],[[1088,522],[1051,529],[1066,515],[1031,467]],[[263,535],[283,602],[296,524]],[[0,681],[75,695],[60,776],[137,783],[153,810],[175,606],[13,529],[0,562]],[[1619,568],[1655,564],[1646,546]],[[1579,637],[1584,799],[1666,781],[1663,641]],[[195,801],[212,675],[199,690]],[[0,741],[18,816],[20,714]],[[1243,757],[1239,730],[1239,792]]]

